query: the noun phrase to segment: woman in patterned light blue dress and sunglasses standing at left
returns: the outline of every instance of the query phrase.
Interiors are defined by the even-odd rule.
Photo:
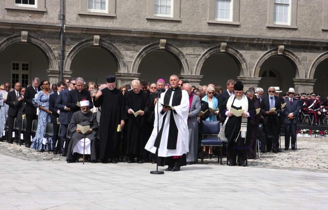
[[[53,91],[50,89],[50,83],[47,80],[40,82],[40,88],[42,89],[39,91],[32,101],[34,102],[34,106],[39,108],[39,114],[37,119],[37,130],[35,137],[33,138],[33,143],[31,148],[38,149],[42,151],[43,147],[43,138],[46,133],[46,125],[47,122],[50,122],[51,118],[51,111],[49,110],[49,97],[50,94],[53,94]],[[52,149],[52,139],[49,138],[50,150]],[[48,148],[45,148],[48,150]]]

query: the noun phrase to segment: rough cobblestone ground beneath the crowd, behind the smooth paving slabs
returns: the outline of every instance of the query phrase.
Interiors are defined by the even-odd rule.
[[[260,153],[261,157],[249,159],[249,167],[301,170],[328,173],[328,138],[297,138],[297,150],[283,150],[284,138],[281,138],[280,153]],[[0,153],[31,161],[66,161],[65,157],[50,152],[38,152],[16,144],[0,142]],[[199,160],[200,162],[200,160]],[[216,165],[217,156],[204,159],[204,164]],[[222,164],[226,165],[226,157]]]

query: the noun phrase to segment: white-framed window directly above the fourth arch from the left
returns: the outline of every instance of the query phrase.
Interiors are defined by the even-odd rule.
[[[215,20],[232,21],[232,1],[215,0]]]

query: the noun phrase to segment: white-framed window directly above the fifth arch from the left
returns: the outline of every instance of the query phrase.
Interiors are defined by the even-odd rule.
[[[291,0],[275,0],[274,24],[290,25]]]

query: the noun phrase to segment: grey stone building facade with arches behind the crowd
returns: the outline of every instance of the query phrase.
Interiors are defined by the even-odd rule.
[[[178,74],[195,85],[235,79],[245,88],[328,94],[328,0],[171,0],[170,16],[155,14],[156,0],[104,0],[105,12],[89,10],[88,0],[66,0],[64,52],[63,0],[16,1],[0,1],[0,83],[22,75],[54,83],[62,71],[97,83],[115,74],[119,86]],[[274,22],[277,1],[288,2],[286,25]],[[228,21],[215,18],[221,2],[231,8]]]

